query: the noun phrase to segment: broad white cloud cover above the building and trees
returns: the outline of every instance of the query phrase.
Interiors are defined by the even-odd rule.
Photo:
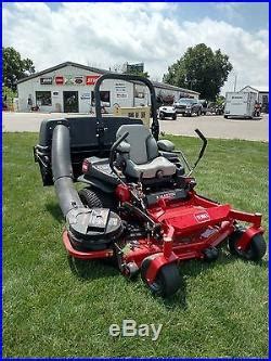
[[[237,88],[268,86],[268,31],[249,34],[227,22],[185,22],[172,3],[10,3],[3,9],[3,44],[30,57],[38,70],[65,61],[108,68],[144,62],[162,80],[188,47],[205,42],[230,56]],[[224,90],[232,90],[230,76]]]

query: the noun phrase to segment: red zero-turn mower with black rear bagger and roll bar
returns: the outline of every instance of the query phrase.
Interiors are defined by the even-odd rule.
[[[104,79],[149,87],[151,131],[141,119],[102,117]],[[43,120],[34,147],[43,185],[55,186],[66,219],[63,243],[72,257],[112,257],[125,276],[141,272],[146,285],[164,297],[180,287],[179,261],[216,259],[223,242],[244,259],[263,257],[260,214],[196,194],[191,175],[207,145],[201,131],[195,130],[203,146],[193,167],[170,141],[158,140],[156,98],[149,79],[106,74],[98,79],[94,94],[95,117]],[[75,181],[87,186],[77,192]]]

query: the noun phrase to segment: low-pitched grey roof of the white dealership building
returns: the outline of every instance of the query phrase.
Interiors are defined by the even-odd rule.
[[[87,66],[87,65],[82,65],[82,64],[77,64],[77,63],[74,63],[74,62],[65,62],[65,63],[61,63],[59,65],[49,67],[48,69],[44,69],[42,72],[38,72],[38,73],[35,73],[35,74],[31,74],[31,75],[29,75],[29,76],[27,76],[27,77],[18,80],[17,83],[21,83],[21,82],[24,82],[24,81],[27,81],[27,80],[40,77],[40,76],[46,75],[46,74],[51,73],[51,72],[55,72],[55,70],[62,69],[63,67],[66,67],[66,66],[74,66],[74,67],[81,68],[83,70],[89,70],[89,72],[93,72],[93,73],[98,73],[98,74],[118,74],[116,72],[111,72],[111,70],[106,70],[106,69],[100,69],[100,68],[96,68],[96,67]],[[155,88],[168,89],[168,90],[177,90],[177,91],[184,91],[184,92],[189,92],[189,93],[193,93],[193,94],[199,94],[196,91],[193,91],[193,90],[190,90],[190,89],[179,88],[179,87],[166,83],[166,82],[152,81],[152,83],[154,85]]]

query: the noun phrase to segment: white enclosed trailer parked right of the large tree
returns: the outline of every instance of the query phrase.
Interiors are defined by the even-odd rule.
[[[255,102],[257,94],[255,92],[228,92],[225,93],[224,104],[224,118],[240,117],[249,118],[254,117]]]

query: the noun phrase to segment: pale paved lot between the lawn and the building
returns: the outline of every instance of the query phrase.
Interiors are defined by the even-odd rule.
[[[3,112],[3,131],[39,131],[40,123],[46,118],[62,118],[66,114],[52,113],[9,113]],[[72,114],[68,114],[72,116]],[[86,116],[86,115],[79,115]],[[224,119],[223,116],[179,116],[177,120],[160,120],[160,130],[168,134],[195,136],[194,129],[201,129],[207,138],[243,139],[268,141],[268,115],[260,119]]]

